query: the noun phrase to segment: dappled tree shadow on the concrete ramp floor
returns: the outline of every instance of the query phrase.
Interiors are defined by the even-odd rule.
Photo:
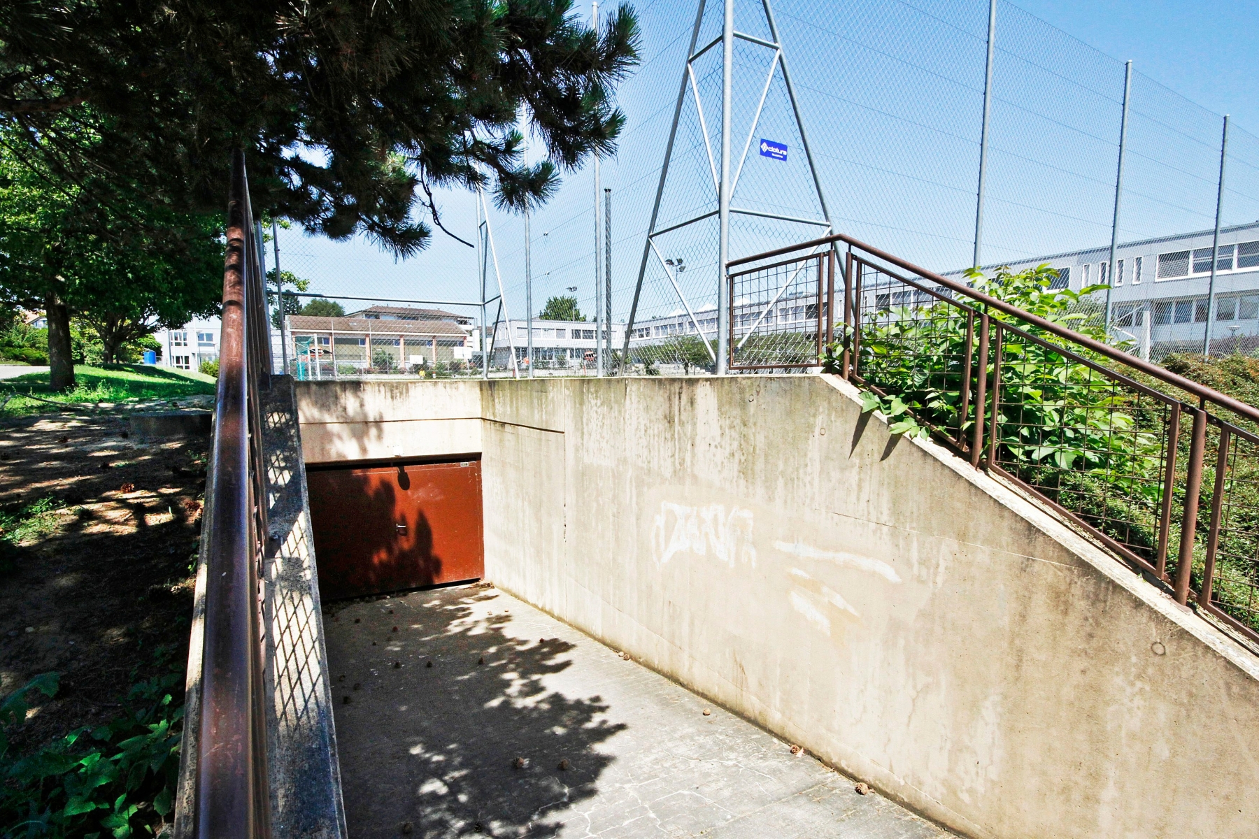
[[[404,823],[417,836],[551,836],[562,825],[549,814],[596,794],[613,757],[594,747],[624,726],[602,718],[599,696],[548,688],[573,644],[512,638],[494,596],[410,592],[326,618],[355,839],[395,836]]]

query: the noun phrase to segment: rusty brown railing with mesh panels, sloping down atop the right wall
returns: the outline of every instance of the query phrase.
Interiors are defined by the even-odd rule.
[[[813,366],[884,397],[1177,603],[1192,597],[1259,642],[1259,409],[1069,328],[1070,296],[1046,288],[1061,311],[1041,317],[1000,299],[1000,287],[987,294],[846,235],[731,262],[728,282],[768,303],[776,282],[815,262],[830,353]],[[753,366],[730,347],[731,369]],[[755,366],[791,366],[779,360],[797,361],[768,353]]]

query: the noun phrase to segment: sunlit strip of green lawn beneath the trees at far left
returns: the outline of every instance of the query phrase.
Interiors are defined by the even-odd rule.
[[[57,410],[38,399],[26,399],[33,394],[57,403],[122,403],[141,399],[178,399],[198,394],[214,394],[214,379],[199,372],[154,367],[147,365],[108,365],[93,367],[76,365],[76,386],[72,390],[55,392],[48,386],[47,372],[33,372],[0,382],[4,396],[16,394],[5,405],[9,415],[31,414],[35,411]]]

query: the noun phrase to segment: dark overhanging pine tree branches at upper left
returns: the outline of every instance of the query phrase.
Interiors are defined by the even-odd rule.
[[[256,213],[400,257],[432,235],[414,210],[441,224],[437,186],[519,210],[612,153],[638,40],[628,6],[593,31],[570,0],[10,0],[0,31],[15,153],[101,200],[222,211],[244,148]]]

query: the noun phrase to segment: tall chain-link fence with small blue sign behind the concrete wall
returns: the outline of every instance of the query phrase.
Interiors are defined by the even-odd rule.
[[[986,0],[856,0],[837,9],[735,0],[729,258],[830,229],[953,275],[976,254],[988,273],[1050,263],[1071,289],[1112,286],[1112,340],[1136,355],[1253,351],[1259,253],[1249,248],[1259,247],[1259,137],[1230,125],[1221,167],[1220,114],[1139,67],[1129,74],[1122,60],[1005,0],[996,4],[987,86],[990,11]],[[530,219],[531,299],[524,219],[486,208],[491,247],[478,236],[471,200],[454,192],[439,197],[468,211],[460,218],[449,209],[446,226],[478,248],[437,234],[413,265],[347,255],[334,270],[326,249],[286,233],[282,267],[312,278],[310,291],[330,299],[468,303],[397,303],[471,316],[472,357],[434,356],[426,361],[432,367],[465,361],[491,375],[590,375],[606,333],[607,370],[711,371],[719,289],[728,282],[718,213],[723,6],[647,0],[638,15],[642,63],[618,92],[626,130],[617,155],[599,167],[611,219],[593,167],[569,172]],[[1212,264],[1217,206],[1212,281],[1201,268]],[[1173,257],[1185,252],[1188,267],[1177,274]],[[347,253],[360,254],[361,245]],[[611,327],[601,332],[592,321],[603,303],[604,264]],[[572,298],[572,319],[555,317],[546,304],[553,298]],[[490,301],[483,313],[482,299]],[[737,319],[742,303],[733,303]],[[1100,316],[1105,294],[1089,296],[1080,308],[1089,306]],[[548,317],[530,336],[526,313],[536,318],[544,309]],[[496,346],[482,353],[485,333]],[[801,341],[808,338],[791,343]],[[752,345],[744,341],[739,352],[753,352]],[[355,364],[375,375],[374,355]],[[413,355],[424,356],[399,350],[398,370],[415,367]],[[769,361],[762,352],[757,364]]]

